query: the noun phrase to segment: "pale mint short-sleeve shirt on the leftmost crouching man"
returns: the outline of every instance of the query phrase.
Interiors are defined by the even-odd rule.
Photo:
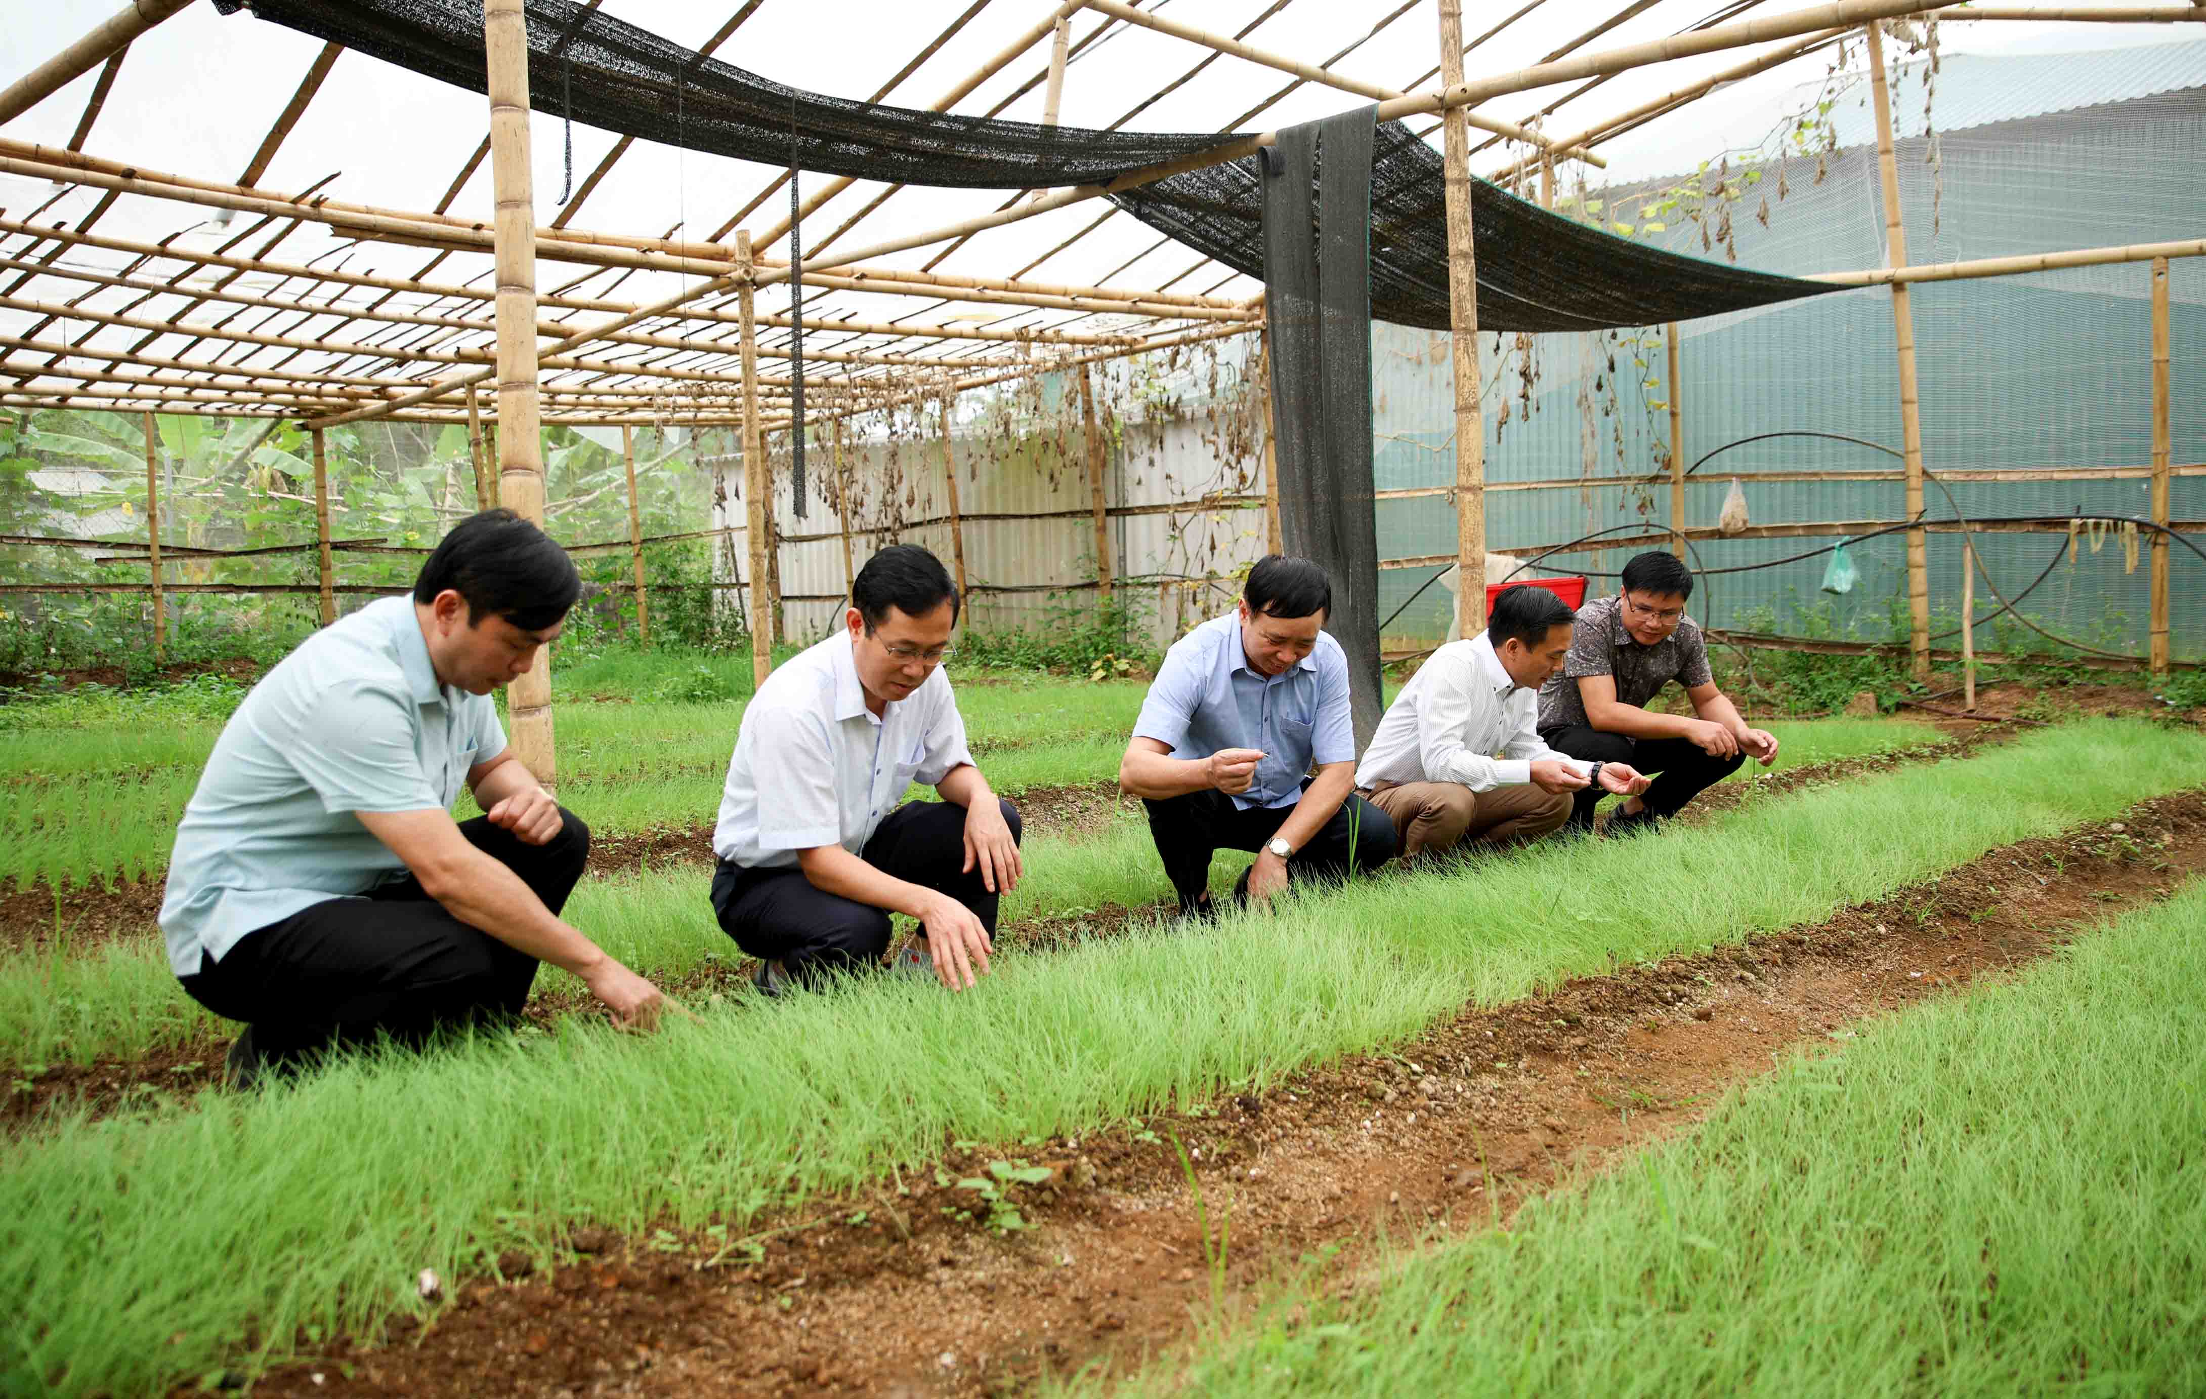
[[[448,810],[505,752],[490,695],[437,680],[413,598],[315,631],[229,715],[183,808],[161,936],[176,975],[238,938],[401,878],[355,812]]]

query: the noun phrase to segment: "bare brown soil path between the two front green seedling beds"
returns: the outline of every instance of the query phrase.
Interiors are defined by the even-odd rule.
[[[426,1333],[399,1317],[390,1337],[413,1344],[338,1342],[256,1392],[986,1395],[1138,1364],[1295,1269],[1348,1293],[1392,1245],[1507,1222],[1785,1050],[1835,1048],[1864,1017],[2012,971],[2202,867],[2206,792],[2162,797],[1820,927],[1469,1011],[1275,1090],[1079,1141],[953,1147],[940,1172],[810,1200],[732,1242],[578,1229],[549,1267],[485,1260]],[[955,1181],[1013,1158],[1052,1174],[1015,1192],[1030,1229],[995,1236]]]

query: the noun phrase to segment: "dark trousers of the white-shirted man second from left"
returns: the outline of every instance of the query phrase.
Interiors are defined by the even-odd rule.
[[[1010,839],[1021,839],[1019,808],[997,801]],[[964,823],[966,810],[953,801],[907,801],[889,812],[858,858],[891,878],[949,894],[995,936],[997,896],[982,883],[977,863],[971,872],[960,869]],[[713,914],[737,947],[781,962],[799,984],[878,967],[889,951],[887,909],[818,889],[796,865],[721,861],[713,874]]]

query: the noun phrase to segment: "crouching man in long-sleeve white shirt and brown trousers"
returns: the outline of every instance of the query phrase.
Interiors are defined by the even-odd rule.
[[[1487,629],[1432,653],[1388,706],[1357,790],[1394,819],[1405,863],[1458,843],[1535,841],[1571,819],[1573,792],[1643,792],[1626,763],[1588,763],[1535,733],[1540,686],[1571,649],[1571,609],[1544,587],[1511,587]]]

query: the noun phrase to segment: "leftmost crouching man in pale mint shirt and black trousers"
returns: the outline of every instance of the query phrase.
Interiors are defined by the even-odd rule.
[[[618,1024],[655,1024],[660,991],[558,918],[589,827],[505,748],[490,700],[580,591],[543,530],[485,510],[413,598],[313,633],[229,717],[176,827],[161,933],[192,1000],[247,1022],[232,1083],[518,1015],[538,962]],[[483,814],[454,823],[461,783]]]

